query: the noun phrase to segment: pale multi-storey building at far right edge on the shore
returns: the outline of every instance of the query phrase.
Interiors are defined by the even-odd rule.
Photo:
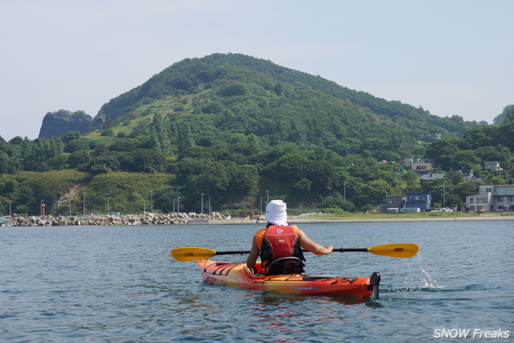
[[[514,208],[514,185],[479,186],[478,193],[466,197],[468,211],[494,212]]]

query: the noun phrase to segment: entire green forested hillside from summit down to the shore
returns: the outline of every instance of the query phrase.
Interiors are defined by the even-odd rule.
[[[269,195],[294,208],[356,211],[406,192],[438,201],[444,187],[459,206],[477,183],[456,170],[494,184],[506,174],[485,172],[484,161],[514,172],[510,112],[495,126],[440,118],[239,54],[175,63],[85,116],[101,129],[0,139],[0,201],[30,214],[42,199],[58,213],[102,213],[110,199],[130,213],[173,211],[180,198],[182,211],[201,211],[204,194],[221,211],[258,208]],[[422,186],[403,156],[437,158],[453,173]]]

